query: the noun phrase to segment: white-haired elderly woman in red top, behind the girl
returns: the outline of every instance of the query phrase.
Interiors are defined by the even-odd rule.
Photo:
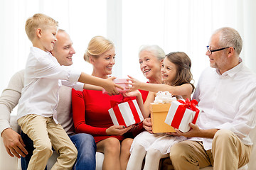
[[[159,84],[161,82],[161,62],[165,57],[164,50],[158,45],[143,45],[139,50],[139,64],[144,77],[151,84]],[[143,102],[149,91],[139,90],[142,94]]]

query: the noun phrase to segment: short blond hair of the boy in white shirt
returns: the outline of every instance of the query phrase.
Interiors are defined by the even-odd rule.
[[[36,36],[36,29],[47,28],[48,26],[58,27],[58,21],[55,21],[50,16],[46,16],[43,13],[36,13],[32,17],[28,18],[25,25],[26,34],[29,40],[33,40]]]

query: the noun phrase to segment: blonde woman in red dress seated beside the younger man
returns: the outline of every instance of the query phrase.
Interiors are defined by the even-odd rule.
[[[92,76],[107,79],[114,66],[114,45],[102,36],[90,40],[85,61],[93,67]],[[102,91],[72,91],[73,120],[75,132],[94,137],[97,152],[105,154],[102,169],[126,169],[132,139],[124,139],[124,133],[132,127],[113,125],[108,110],[110,101],[121,101],[122,95],[109,96]]]

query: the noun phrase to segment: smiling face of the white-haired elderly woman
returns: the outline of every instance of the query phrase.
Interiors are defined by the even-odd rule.
[[[161,73],[161,62],[157,60],[157,57],[152,52],[140,52],[139,64],[146,79],[154,79],[157,74]]]

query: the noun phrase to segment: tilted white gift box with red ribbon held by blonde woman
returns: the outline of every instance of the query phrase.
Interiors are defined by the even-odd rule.
[[[127,127],[144,120],[135,99],[115,105],[113,108],[110,108],[109,113],[114,125],[124,125]]]

